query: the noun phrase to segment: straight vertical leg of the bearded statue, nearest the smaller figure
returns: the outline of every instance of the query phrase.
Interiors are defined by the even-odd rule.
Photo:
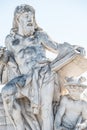
[[[54,80],[46,83],[41,88],[41,118],[42,130],[53,130],[52,100],[54,93]]]

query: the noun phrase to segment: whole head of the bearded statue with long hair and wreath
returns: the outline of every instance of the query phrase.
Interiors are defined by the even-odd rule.
[[[19,29],[24,29],[24,32],[38,29],[35,21],[35,10],[32,6],[20,5],[16,7],[13,19],[13,31],[16,33]]]

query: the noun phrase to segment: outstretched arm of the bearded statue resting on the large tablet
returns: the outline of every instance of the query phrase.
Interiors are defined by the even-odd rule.
[[[85,55],[85,50],[83,47],[77,45],[71,45],[67,42],[64,42],[63,44],[59,44],[53,41],[49,37],[49,35],[43,31],[39,32],[39,37],[41,43],[44,45],[45,48],[47,48],[51,52],[58,54],[59,56],[66,55],[66,53],[71,53],[71,51],[75,51],[76,53]]]

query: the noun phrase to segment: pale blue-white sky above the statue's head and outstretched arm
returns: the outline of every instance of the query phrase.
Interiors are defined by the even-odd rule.
[[[0,44],[10,33],[14,9],[30,4],[36,10],[36,21],[50,37],[85,48],[87,44],[87,0],[2,0],[0,1]]]

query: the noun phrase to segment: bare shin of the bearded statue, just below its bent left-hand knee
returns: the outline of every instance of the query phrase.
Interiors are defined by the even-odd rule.
[[[9,96],[9,100],[3,100],[5,112],[10,119],[11,123],[14,125],[15,130],[25,130],[24,123],[21,115],[21,107],[13,100],[12,96]]]

